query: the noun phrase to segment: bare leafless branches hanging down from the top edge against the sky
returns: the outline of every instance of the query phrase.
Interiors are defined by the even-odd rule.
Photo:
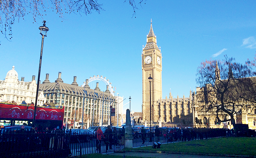
[[[20,19],[24,20],[25,15],[32,14],[33,20],[36,22],[37,17],[43,19],[47,11],[55,11],[59,17],[63,19],[63,14],[71,12],[78,14],[91,14],[97,12],[100,14],[104,9],[103,4],[99,0],[0,0],[0,31],[10,40],[12,38],[12,24]],[[133,8],[133,16],[137,5],[145,0],[123,0],[128,2]],[[103,1],[105,2],[105,1]]]

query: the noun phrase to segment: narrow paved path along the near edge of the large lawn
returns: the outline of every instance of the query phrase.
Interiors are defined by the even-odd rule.
[[[243,156],[243,155],[193,155],[192,153],[168,153],[161,151],[115,151],[112,153],[106,153],[107,155],[119,155],[119,156],[136,156],[136,157],[146,157],[146,158],[228,158],[228,157],[237,157],[237,158],[252,158],[255,156]]]

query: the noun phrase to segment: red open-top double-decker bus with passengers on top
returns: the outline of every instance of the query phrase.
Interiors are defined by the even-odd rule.
[[[11,103],[0,103],[0,125],[23,125],[32,126],[35,106],[17,105]],[[51,108],[44,106],[36,107],[35,127],[40,130],[57,126],[62,128],[64,118],[64,107]]]

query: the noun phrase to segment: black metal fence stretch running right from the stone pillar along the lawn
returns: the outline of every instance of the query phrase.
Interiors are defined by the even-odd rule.
[[[150,146],[155,142],[174,143],[196,139],[208,139],[226,136],[225,129],[179,129],[179,128],[152,128],[132,127],[133,147]]]

